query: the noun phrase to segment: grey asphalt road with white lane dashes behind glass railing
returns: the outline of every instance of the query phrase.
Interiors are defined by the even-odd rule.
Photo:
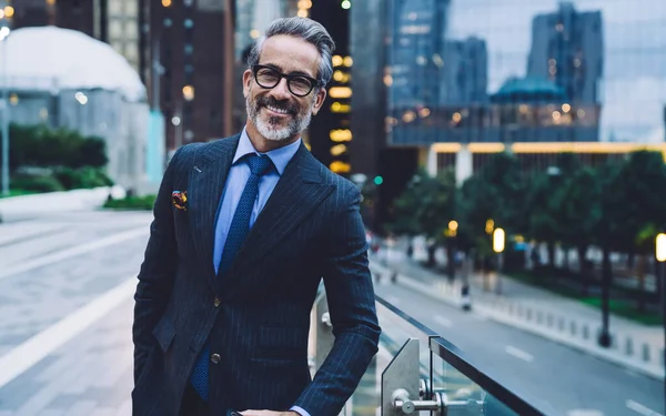
[[[569,416],[664,414],[662,382],[463,312],[400,284],[381,284],[375,292],[455,344],[474,365],[527,400],[538,397]]]

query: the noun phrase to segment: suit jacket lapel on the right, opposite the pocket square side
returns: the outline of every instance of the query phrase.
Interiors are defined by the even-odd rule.
[[[320,169],[320,163],[301,144],[252,226],[230,277],[244,265],[261,260],[333,191],[333,185],[322,183]]]

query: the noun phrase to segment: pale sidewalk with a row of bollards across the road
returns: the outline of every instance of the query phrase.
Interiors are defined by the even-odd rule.
[[[380,260],[381,257],[381,260]],[[386,273],[385,253],[371,256],[373,268]],[[389,267],[398,274],[398,284],[437,297],[455,306],[462,305],[462,278],[453,284],[446,276],[422,267],[404,252],[389,253]],[[496,322],[585,351],[643,374],[664,377],[664,332],[662,327],[646,326],[620,316],[610,315],[609,331],[613,345],[597,344],[601,331],[601,311],[552,292],[501,276],[502,295],[496,295],[497,275],[491,274],[490,292],[483,291],[483,276],[470,277],[472,308]]]

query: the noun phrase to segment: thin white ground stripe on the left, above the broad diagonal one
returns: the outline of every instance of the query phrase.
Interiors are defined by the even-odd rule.
[[[105,247],[109,245],[122,243],[123,241],[135,239],[138,236],[147,235],[147,234],[148,234],[148,229],[142,226],[142,227],[133,229],[133,230],[125,231],[125,232],[122,232],[119,234],[113,234],[105,239],[101,239],[101,240],[93,241],[90,243],[77,245],[74,247],[61,250],[59,252],[41,256],[39,258],[34,258],[29,262],[23,262],[21,264],[10,266],[10,267],[3,270],[2,272],[0,272],[0,280],[11,276],[12,274],[27,272],[32,268],[37,268],[37,267],[44,266],[47,264],[60,262],[61,260],[74,257],[74,256],[78,256],[81,254],[90,253],[92,251],[95,251],[95,250],[99,250],[99,248],[102,248],[102,247]]]

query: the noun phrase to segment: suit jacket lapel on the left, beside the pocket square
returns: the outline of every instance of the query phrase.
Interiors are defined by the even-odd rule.
[[[213,244],[220,201],[240,135],[222,139],[203,146],[203,152],[192,166],[189,210],[194,247],[206,271],[211,287],[215,284]]]

